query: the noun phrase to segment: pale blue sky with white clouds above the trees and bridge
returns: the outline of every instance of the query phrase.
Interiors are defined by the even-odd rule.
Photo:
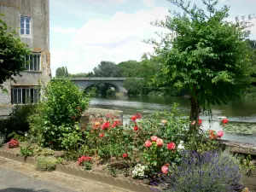
[[[168,0],[51,0],[49,1],[51,71],[67,67],[69,73],[89,73],[101,61],[137,60],[153,53],[143,39],[158,38],[163,29],[150,25],[179,10]],[[184,0],[189,2],[189,0]],[[230,6],[230,18],[256,14],[256,0],[220,0]],[[201,3],[201,0],[192,0]],[[251,37],[256,39],[255,26]]]

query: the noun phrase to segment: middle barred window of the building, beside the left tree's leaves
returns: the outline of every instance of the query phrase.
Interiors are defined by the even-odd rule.
[[[27,71],[40,71],[41,70],[41,55],[33,53],[32,55],[25,56],[25,68]]]

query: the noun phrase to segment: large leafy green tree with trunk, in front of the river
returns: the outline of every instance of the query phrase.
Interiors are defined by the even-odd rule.
[[[230,8],[218,9],[217,0],[202,0],[204,8],[183,0],[169,2],[183,12],[173,12],[166,20],[154,23],[170,31],[162,36],[162,44],[150,40],[156,55],[164,61],[155,82],[188,90],[190,119],[197,121],[201,108],[229,102],[240,96],[248,83],[249,58],[244,41],[249,34],[248,22],[244,18],[228,21]]]

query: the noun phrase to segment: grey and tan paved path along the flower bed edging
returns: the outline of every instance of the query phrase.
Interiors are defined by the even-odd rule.
[[[0,192],[129,192],[61,172],[38,172],[33,166],[0,157]],[[131,192],[131,191],[130,191]]]

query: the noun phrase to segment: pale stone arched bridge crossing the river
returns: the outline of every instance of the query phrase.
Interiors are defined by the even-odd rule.
[[[124,81],[126,78],[70,78],[73,84],[77,85],[81,89],[86,89],[93,84],[111,84],[113,87],[117,88],[120,93],[127,92],[124,88]],[[143,78],[137,78],[143,79]]]

